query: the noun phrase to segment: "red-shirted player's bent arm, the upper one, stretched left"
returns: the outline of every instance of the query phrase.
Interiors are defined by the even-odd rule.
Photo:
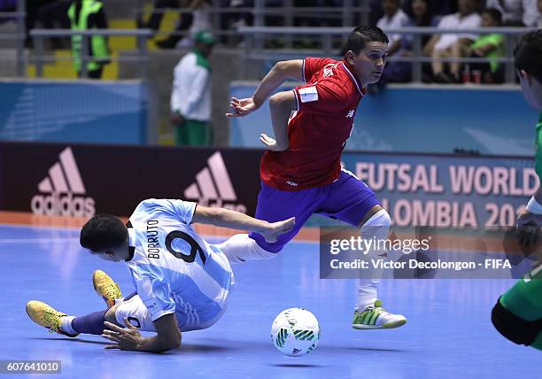
[[[229,106],[231,106],[232,112],[226,113],[226,117],[246,116],[256,111],[286,79],[303,81],[303,59],[277,62],[259,83],[258,89],[252,97],[231,98]]]

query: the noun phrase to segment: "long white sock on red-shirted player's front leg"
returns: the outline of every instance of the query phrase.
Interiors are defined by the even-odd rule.
[[[390,231],[391,218],[390,215],[383,209],[373,214],[373,216],[367,220],[365,224],[361,227],[361,236],[364,239],[373,239],[376,241],[385,240],[388,238],[388,232]],[[385,250],[373,249],[368,251],[368,259],[377,259],[382,255]],[[372,267],[372,265],[369,265]],[[378,298],[378,284],[380,283],[380,278],[383,275],[383,269],[375,269],[370,273],[368,279],[359,279],[357,284],[356,291],[356,311],[363,311],[367,306],[375,304],[376,299]]]

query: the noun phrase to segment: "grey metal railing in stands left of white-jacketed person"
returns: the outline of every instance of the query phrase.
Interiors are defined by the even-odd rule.
[[[81,77],[87,77],[87,65],[92,57],[86,51],[89,51],[90,38],[94,35],[105,36],[133,36],[137,41],[136,57],[118,57],[120,61],[136,61],[140,63],[139,76],[143,79],[147,77],[149,53],[147,50],[147,39],[152,35],[149,29],[91,29],[91,30],[66,30],[66,29],[32,29],[30,35],[35,38],[35,75],[38,78],[43,76],[43,65],[47,62],[54,62],[58,59],[73,60],[74,57],[52,57],[44,55],[44,38],[49,37],[71,37],[81,35]],[[84,53],[83,53],[84,52]],[[102,58],[102,57],[101,57]],[[109,59],[115,57],[109,56]]]

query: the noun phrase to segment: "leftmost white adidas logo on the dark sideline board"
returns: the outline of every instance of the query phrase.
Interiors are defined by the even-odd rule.
[[[50,167],[49,174],[38,184],[38,190],[49,195],[32,197],[32,212],[61,216],[94,216],[95,202],[92,197],[84,197],[85,186],[72,149],[66,147],[58,158],[59,162]]]

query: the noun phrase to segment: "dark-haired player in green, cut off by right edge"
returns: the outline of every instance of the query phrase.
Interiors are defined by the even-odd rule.
[[[527,102],[541,112],[536,127],[535,170],[542,178],[542,29],[522,36],[514,51],[515,68]],[[542,188],[530,198],[516,220],[516,235],[523,251],[536,246],[542,226]],[[537,251],[535,251],[537,252]],[[542,257],[534,267],[497,300],[492,323],[515,344],[542,350]]]

